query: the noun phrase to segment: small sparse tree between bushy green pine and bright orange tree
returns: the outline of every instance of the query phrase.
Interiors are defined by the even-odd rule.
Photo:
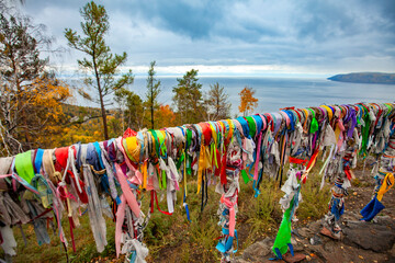
[[[218,121],[228,118],[230,115],[232,104],[228,102],[229,95],[225,93],[225,88],[216,82],[210,85],[206,104],[208,106],[207,113],[211,121]]]

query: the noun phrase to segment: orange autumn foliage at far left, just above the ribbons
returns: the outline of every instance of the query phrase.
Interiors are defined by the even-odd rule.
[[[64,132],[63,103],[71,96],[67,84],[44,75],[20,90],[5,84],[1,94],[3,101],[8,99],[8,103],[0,107],[3,124],[0,155],[56,145],[57,135]],[[13,147],[13,141],[18,141],[20,147]]]

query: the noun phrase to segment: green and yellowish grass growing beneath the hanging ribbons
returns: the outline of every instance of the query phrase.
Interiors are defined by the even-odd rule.
[[[319,163],[317,163],[319,168]],[[284,170],[285,173],[286,170]],[[308,175],[306,184],[302,185],[303,203],[296,211],[300,221],[316,220],[327,211],[330,198],[330,186],[319,191],[320,175],[318,169],[314,169]],[[283,181],[286,175],[283,175]],[[174,214],[163,215],[155,208],[150,217],[148,227],[145,230],[144,242],[149,249],[148,262],[217,262],[221,258],[215,245],[215,240],[221,236],[221,227],[217,225],[219,194],[215,193],[213,185],[208,186],[208,202],[204,210],[201,211],[201,194],[196,194],[196,183],[188,183],[188,205],[190,209],[191,222],[187,220],[185,210],[182,207],[182,191],[178,192],[178,199],[174,206]],[[279,199],[283,193],[279,188],[279,182],[263,179],[260,187],[261,194],[253,197],[252,183],[245,184],[240,179],[239,206],[237,214],[239,248],[240,254],[245,248],[255,241],[262,240],[267,236],[274,236],[280,226],[282,210]],[[158,194],[158,198],[160,198]],[[149,207],[149,193],[143,193],[143,211]],[[159,202],[160,208],[167,210],[166,195]],[[65,218],[64,230],[69,236],[68,220]],[[67,221],[67,222],[66,222]],[[75,230],[77,253],[71,250],[69,244],[68,255],[70,262],[122,262],[115,259],[114,228],[111,219],[106,219],[109,245],[102,253],[95,250],[95,243],[89,225],[89,217],[86,214],[80,218],[81,226]],[[60,247],[60,242],[54,232],[50,232],[50,244],[37,245],[35,233],[31,225],[23,226],[29,243],[24,248],[23,239],[14,228],[18,241],[18,255],[14,262],[66,262],[66,254]],[[70,240],[70,239],[68,239]],[[1,255],[0,255],[1,256]]]

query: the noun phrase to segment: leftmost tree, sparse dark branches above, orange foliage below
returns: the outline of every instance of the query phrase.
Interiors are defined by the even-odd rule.
[[[0,14],[0,155],[15,155],[41,139],[47,142],[43,135],[57,130],[50,126],[61,121],[61,103],[70,92],[44,70],[48,59],[40,58],[40,49],[49,44],[42,25]]]

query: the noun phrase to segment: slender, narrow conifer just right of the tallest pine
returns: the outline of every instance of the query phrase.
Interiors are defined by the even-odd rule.
[[[146,93],[146,102],[147,108],[150,111],[150,123],[151,128],[155,128],[155,121],[154,121],[154,112],[159,107],[158,104],[158,95],[160,93],[160,80],[155,78],[155,70],[154,67],[156,66],[156,61],[150,62],[150,67],[148,70],[148,78],[147,78],[147,93]]]

